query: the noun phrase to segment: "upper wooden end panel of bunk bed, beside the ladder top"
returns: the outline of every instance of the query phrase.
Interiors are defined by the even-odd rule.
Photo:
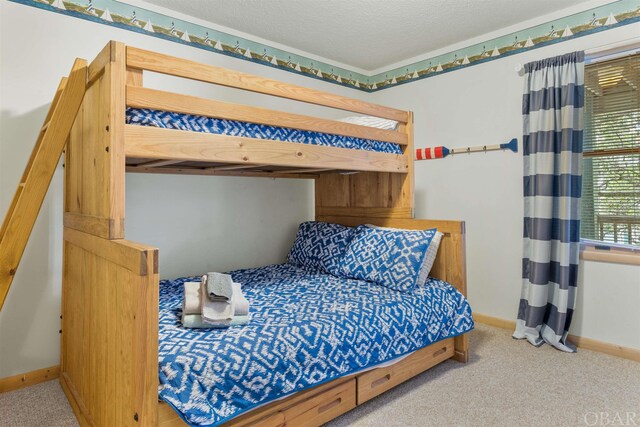
[[[124,238],[125,64],[110,42],[89,65],[65,159],[64,226],[105,239]]]

